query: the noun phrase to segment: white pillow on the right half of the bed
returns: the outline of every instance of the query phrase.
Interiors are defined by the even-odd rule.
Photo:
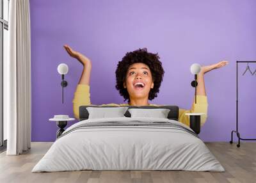
[[[133,117],[150,117],[150,118],[167,118],[170,109],[138,109],[131,108],[128,109],[131,113],[131,118]]]

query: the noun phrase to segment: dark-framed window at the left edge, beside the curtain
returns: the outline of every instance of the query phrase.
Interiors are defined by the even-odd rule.
[[[0,151],[6,148],[6,123],[3,120],[3,63],[7,59],[9,0],[0,0]]]

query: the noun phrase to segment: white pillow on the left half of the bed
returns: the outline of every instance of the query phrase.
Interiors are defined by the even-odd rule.
[[[128,107],[86,107],[89,117],[95,118],[118,118],[125,117],[124,114]]]

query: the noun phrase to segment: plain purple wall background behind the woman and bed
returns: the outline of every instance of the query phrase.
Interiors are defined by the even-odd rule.
[[[30,8],[32,141],[54,141],[58,127],[48,119],[73,116],[82,65],[68,56],[64,44],[92,60],[93,104],[124,103],[115,89],[115,69],[128,51],[147,47],[159,53],[164,80],[150,103],[184,109],[191,107],[194,95],[190,65],[228,60],[226,67],[205,74],[209,108],[200,137],[230,140],[236,124],[236,60],[256,60],[256,1],[31,0]],[[60,63],[69,67],[64,104]],[[242,76],[245,68],[239,69],[240,129],[242,137],[253,138],[256,76]]]

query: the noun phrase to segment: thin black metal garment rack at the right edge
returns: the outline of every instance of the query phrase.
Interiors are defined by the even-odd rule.
[[[256,139],[246,139],[241,138],[240,133],[238,131],[238,64],[239,63],[256,63],[256,61],[236,61],[236,131],[231,132],[231,140],[230,143],[233,143],[233,133],[237,134],[238,144],[237,147],[240,147],[240,140],[256,140]]]

